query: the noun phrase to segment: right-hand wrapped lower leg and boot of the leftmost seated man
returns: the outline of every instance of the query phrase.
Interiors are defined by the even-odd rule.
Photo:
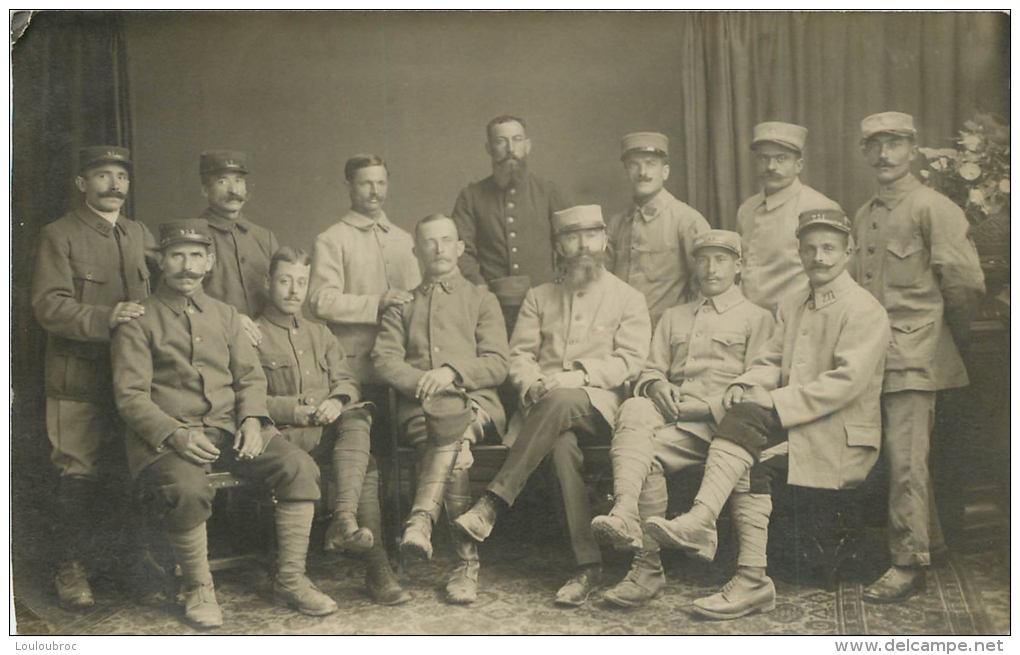
[[[320,592],[305,574],[308,542],[315,507],[310,502],[276,504],[276,578],[273,596],[277,601],[310,616],[324,616],[337,611],[337,603]]]

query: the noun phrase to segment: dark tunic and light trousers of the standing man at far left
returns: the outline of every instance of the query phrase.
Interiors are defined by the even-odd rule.
[[[47,432],[63,475],[94,477],[99,444],[116,432],[110,314],[149,295],[155,240],[141,222],[116,224],[83,205],[43,228],[32,306],[48,333]]]

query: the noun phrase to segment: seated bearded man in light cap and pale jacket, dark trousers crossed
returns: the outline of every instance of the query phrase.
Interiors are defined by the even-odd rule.
[[[599,206],[558,211],[552,226],[561,276],[527,292],[510,342],[510,382],[520,402],[504,439],[510,453],[486,494],[455,524],[483,541],[552,453],[578,565],[556,604],[577,607],[602,580],[578,443],[610,442],[624,383],[641,372],[652,325],[645,296],[605,269]]]

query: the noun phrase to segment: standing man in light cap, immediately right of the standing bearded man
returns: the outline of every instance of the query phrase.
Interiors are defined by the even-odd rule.
[[[654,328],[663,312],[697,295],[694,240],[709,224],[664,188],[669,178],[666,135],[635,132],[623,137],[620,149],[633,205],[609,219],[606,267],[645,294]]]

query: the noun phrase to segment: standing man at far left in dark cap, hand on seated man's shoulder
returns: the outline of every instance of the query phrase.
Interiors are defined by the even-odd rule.
[[[120,213],[131,188],[131,153],[83,148],[74,186],[84,202],[40,234],[32,306],[47,332],[46,432],[60,471],[54,521],[60,545],[57,599],[93,605],[82,546],[97,522],[101,475],[122,459],[122,425],[113,406],[110,337],[145,313],[149,230]],[[122,466],[122,464],[121,464]]]

